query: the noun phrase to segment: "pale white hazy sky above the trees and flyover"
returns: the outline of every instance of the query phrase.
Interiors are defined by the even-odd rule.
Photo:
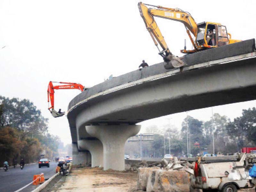
[[[143,3],[180,8],[190,12],[197,23],[220,22],[232,38],[255,37],[255,0],[160,1]],[[49,132],[71,142],[65,116],[53,118],[48,111],[47,85],[52,81],[99,84],[111,74],[119,76],[136,70],[141,60],[149,65],[162,62],[138,10],[138,1],[0,0],[0,95],[34,102],[49,118]],[[181,56],[188,36],[183,24],[156,18],[169,49]],[[5,47],[4,47],[5,46]],[[1,47],[4,47],[1,49]],[[190,48],[191,45],[187,44]],[[55,108],[67,111],[78,90],[56,90]],[[214,107],[214,113],[235,118],[255,101]],[[190,116],[208,120],[211,108],[193,110]],[[142,122],[172,124],[180,128],[186,113]]]

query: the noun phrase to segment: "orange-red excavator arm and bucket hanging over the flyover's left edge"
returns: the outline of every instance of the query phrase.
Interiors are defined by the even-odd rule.
[[[53,86],[52,83],[60,83],[64,85]],[[49,107],[50,100],[51,100],[51,107],[49,107],[48,109],[51,112],[53,117],[61,117],[65,115],[65,112],[61,112],[60,110],[57,112],[54,110],[54,89],[79,89],[81,92],[83,92],[88,88],[84,88],[84,86],[79,83],[52,82],[52,81],[49,82],[48,89],[47,89],[47,96],[48,96],[48,107]]]

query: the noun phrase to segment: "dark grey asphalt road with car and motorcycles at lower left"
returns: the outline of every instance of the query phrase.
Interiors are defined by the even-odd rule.
[[[50,167],[38,168],[38,163],[28,164],[24,166],[24,169],[20,169],[18,165],[15,169],[13,166],[8,169],[7,172],[0,170],[0,191],[1,192],[14,192],[28,183],[33,181],[33,176],[44,173],[44,179],[50,178],[55,174],[57,163],[50,162]],[[21,192],[28,192],[35,189],[35,185],[29,185],[27,188],[21,190]]]

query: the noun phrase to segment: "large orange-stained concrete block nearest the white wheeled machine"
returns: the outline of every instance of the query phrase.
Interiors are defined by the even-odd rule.
[[[185,171],[154,170],[148,177],[147,192],[189,192],[189,174]]]

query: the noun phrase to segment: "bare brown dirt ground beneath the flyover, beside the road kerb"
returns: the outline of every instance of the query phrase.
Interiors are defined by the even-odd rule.
[[[99,168],[73,169],[68,176],[63,176],[49,191],[141,192],[136,190],[137,174],[137,172],[130,171],[103,171]],[[196,190],[196,192],[201,191]],[[238,192],[255,192],[255,189],[241,189]]]

